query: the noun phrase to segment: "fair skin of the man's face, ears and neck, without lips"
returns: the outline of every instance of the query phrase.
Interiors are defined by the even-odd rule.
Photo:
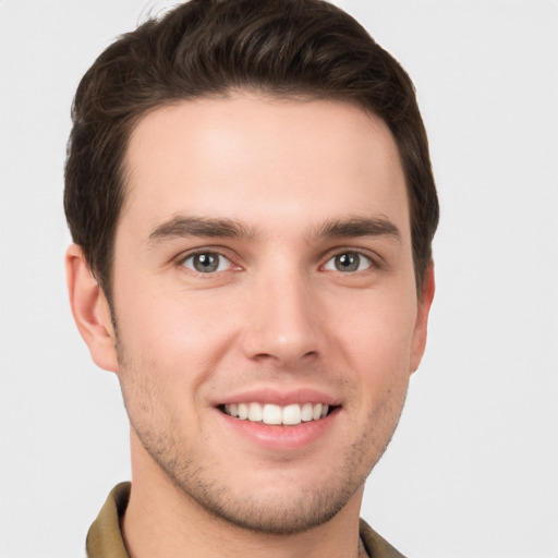
[[[118,374],[131,422],[132,557],[357,556],[364,483],[423,355],[434,295],[432,267],[416,295],[389,130],[339,101],[235,93],[145,116],[125,166],[118,331],[77,246],[66,267],[80,331]],[[193,251],[218,269],[196,271]],[[216,407],[254,389],[312,389],[336,413],[307,444],[263,447]],[[284,427],[268,428],[274,440]]]

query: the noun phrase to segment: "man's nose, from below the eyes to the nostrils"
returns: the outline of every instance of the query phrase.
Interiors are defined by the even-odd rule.
[[[291,272],[256,282],[245,306],[245,356],[289,368],[317,357],[323,349],[323,319],[311,280]]]

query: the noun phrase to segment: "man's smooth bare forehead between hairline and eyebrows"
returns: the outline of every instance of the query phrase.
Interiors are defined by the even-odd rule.
[[[138,122],[125,169],[121,221],[136,228],[180,213],[255,226],[374,214],[408,227],[392,135],[347,102],[248,94],[180,101]]]

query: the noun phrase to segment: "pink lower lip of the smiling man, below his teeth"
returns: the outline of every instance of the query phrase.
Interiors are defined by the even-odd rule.
[[[340,408],[336,408],[324,418],[293,426],[243,421],[221,411],[218,412],[230,428],[259,448],[272,451],[293,451],[308,447],[326,436],[337,420],[339,411]]]

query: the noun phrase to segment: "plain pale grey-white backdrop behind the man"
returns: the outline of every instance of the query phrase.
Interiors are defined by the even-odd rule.
[[[413,77],[442,217],[429,344],[363,517],[412,558],[558,557],[558,2],[339,2]],[[70,105],[169,2],[0,0],[0,557],[80,556],[130,477],[113,375],[73,325]]]

